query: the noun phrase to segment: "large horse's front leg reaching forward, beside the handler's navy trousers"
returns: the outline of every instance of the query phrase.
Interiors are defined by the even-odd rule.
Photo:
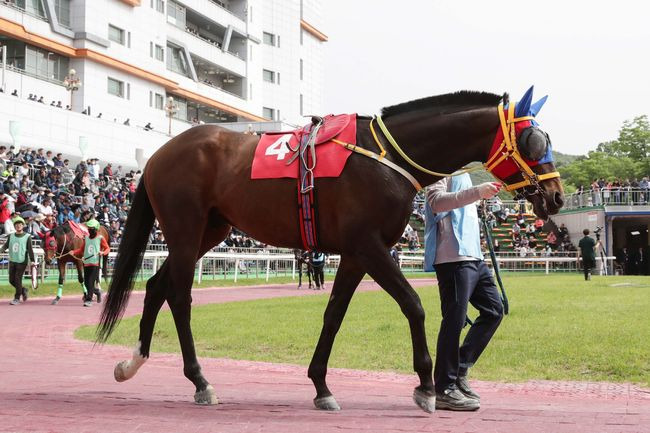
[[[433,362],[427,347],[424,308],[420,297],[391,258],[387,247],[380,244],[368,248],[359,260],[368,274],[399,304],[409,322],[413,344],[413,368],[420,378],[420,385],[413,392],[413,401],[425,412],[432,413],[436,406],[432,378]]]

